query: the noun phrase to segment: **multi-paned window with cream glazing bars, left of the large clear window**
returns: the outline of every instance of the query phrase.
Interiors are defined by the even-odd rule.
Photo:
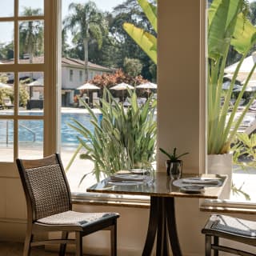
[[[56,151],[55,3],[9,1],[0,11],[0,169],[6,175],[16,175],[15,158]]]

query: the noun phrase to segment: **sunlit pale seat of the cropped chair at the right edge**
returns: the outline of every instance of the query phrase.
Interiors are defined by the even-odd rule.
[[[227,232],[230,234],[243,235],[249,238],[256,238],[256,222],[233,218],[226,215],[214,215],[212,230]]]

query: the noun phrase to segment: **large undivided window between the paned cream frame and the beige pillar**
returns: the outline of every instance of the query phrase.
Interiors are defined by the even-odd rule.
[[[150,2],[156,6],[155,1]],[[99,109],[104,88],[110,91],[116,102],[110,102],[109,111],[110,108],[113,108],[113,112],[110,111],[109,114],[116,113],[115,111],[118,108],[120,114],[122,114],[122,110],[125,110],[124,113],[130,111],[130,98],[133,91],[136,92],[138,106],[141,109],[151,94],[152,96],[155,95],[154,98],[157,95],[156,85],[154,88],[151,84],[149,87],[134,89],[134,86],[142,83],[156,83],[156,65],[122,28],[123,23],[130,22],[154,34],[154,36],[156,33],[137,1],[129,2],[127,5],[124,5],[124,3],[127,3],[125,0],[113,2],[104,0],[88,2],[85,0],[79,3],[81,5],[71,0],[62,2],[62,65],[65,64],[65,68],[62,67],[62,78],[64,79],[62,79],[61,149],[62,160],[67,170],[71,190],[85,192],[85,188],[96,182],[98,176],[102,178],[102,174],[109,175],[110,170],[117,171],[129,168],[128,164],[122,166],[120,163],[122,162],[120,161],[122,159],[120,154],[122,146],[120,148],[118,146],[122,142],[122,136],[126,136],[126,140],[130,139],[132,137],[130,134],[135,133],[138,127],[140,128],[137,132],[138,135],[142,132],[144,132],[144,135],[146,134],[145,127],[142,127],[139,122],[138,127],[129,128],[131,123],[134,122],[134,120],[130,120],[130,124],[123,127],[122,130],[122,133],[127,133],[126,135],[120,134],[118,131],[120,136],[116,135],[120,138],[117,139],[115,145],[113,141],[116,138],[107,141],[110,130],[113,128],[114,118],[106,120]],[[69,70],[67,67],[72,69],[72,75],[71,73],[66,74]],[[72,83],[67,84],[65,78],[68,78]],[[126,88],[122,90],[111,89],[111,87],[122,82],[133,86],[133,89],[130,92]],[[154,100],[152,99],[152,102],[150,102],[148,113],[150,115],[154,112],[155,124]],[[90,110],[82,102],[86,102]],[[114,106],[115,104],[117,105]],[[95,115],[94,122],[92,122],[91,112]],[[74,129],[77,122],[80,122],[81,126],[84,127],[86,135]],[[109,129],[104,130],[106,128],[102,124],[104,122],[111,123]],[[151,122],[150,118],[148,122]],[[96,130],[96,134],[95,127],[97,124],[102,127],[105,136],[101,137],[100,130]],[[115,127],[115,130],[118,130],[117,127]],[[154,139],[155,142],[156,129],[153,130],[154,132],[147,136],[152,136],[152,140]],[[90,137],[88,134],[93,135]],[[104,139],[104,142],[99,138]],[[81,140],[84,144],[79,146]],[[96,142],[97,140],[98,142]],[[89,155],[90,148],[94,148],[96,143],[98,143],[98,150],[93,149],[95,154]],[[112,147],[112,150],[108,149],[107,146]],[[151,151],[154,151],[155,147],[152,150],[150,145],[146,146],[145,152],[152,154],[150,161],[153,162],[155,152],[152,153]],[[136,147],[138,146],[134,144],[135,150]],[[133,158],[137,157],[135,150]],[[75,152],[78,154],[74,158]],[[118,155],[120,155],[120,159],[118,159]],[[137,159],[138,164],[142,165],[142,162],[145,162],[144,158],[145,156],[141,155],[139,160]],[[73,162],[72,159],[74,159]],[[132,159],[131,162],[133,161]],[[72,162],[71,165],[70,162]],[[113,167],[114,162],[116,162],[116,166]],[[124,159],[123,162],[126,162],[126,160]],[[109,169],[107,169],[107,165],[109,165]],[[108,174],[107,170],[109,170]],[[84,178],[82,184],[78,186],[82,178]]]

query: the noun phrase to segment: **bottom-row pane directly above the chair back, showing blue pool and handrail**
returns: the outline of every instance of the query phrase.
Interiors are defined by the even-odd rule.
[[[43,157],[43,121],[20,120],[18,122],[18,157]]]

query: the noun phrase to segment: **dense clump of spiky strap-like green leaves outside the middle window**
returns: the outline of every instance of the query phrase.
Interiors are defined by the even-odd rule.
[[[80,158],[94,161],[93,174],[97,179],[101,174],[108,176],[118,170],[130,170],[138,166],[138,163],[149,165],[154,161],[156,101],[149,98],[139,107],[136,94],[131,91],[129,94],[130,106],[124,108],[122,104],[115,102],[110,92],[105,89],[101,99],[102,106],[98,106],[102,113],[100,123],[86,102],[83,102],[90,113],[94,134],[75,119],[69,123],[70,127],[81,134],[78,138],[78,148],[83,147],[86,153],[80,154]],[[75,154],[78,154],[78,151]]]

